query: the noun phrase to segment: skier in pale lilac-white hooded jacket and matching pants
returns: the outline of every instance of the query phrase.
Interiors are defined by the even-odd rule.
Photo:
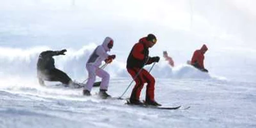
[[[99,96],[101,98],[108,98],[110,95],[106,93],[109,87],[110,75],[108,72],[100,69],[99,66],[101,62],[104,60],[106,63],[111,63],[113,59],[116,58],[116,55],[109,55],[106,52],[109,52],[114,45],[114,40],[110,37],[106,37],[102,43],[99,45],[94,52],[91,54],[90,58],[86,63],[86,69],[89,73],[89,79],[84,86],[83,95],[90,96],[91,90],[96,79],[96,75],[102,78],[100,83],[100,91]]]

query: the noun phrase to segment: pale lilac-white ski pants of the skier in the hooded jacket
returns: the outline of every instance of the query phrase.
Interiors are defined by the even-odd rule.
[[[109,81],[110,81],[110,74],[99,67],[95,67],[93,65],[87,64],[86,69],[89,73],[89,78],[86,83],[86,86],[84,86],[84,89],[91,92],[93,88],[93,83],[95,82],[96,76],[102,78],[100,83],[100,89],[108,90],[109,87]]]

